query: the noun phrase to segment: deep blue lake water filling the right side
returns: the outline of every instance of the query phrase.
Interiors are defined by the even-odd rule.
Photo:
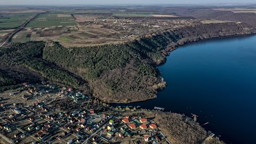
[[[166,89],[132,105],[193,113],[226,143],[256,143],[256,36],[180,46],[158,69]]]

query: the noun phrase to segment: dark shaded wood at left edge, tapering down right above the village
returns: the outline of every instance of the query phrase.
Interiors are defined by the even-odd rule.
[[[42,59],[44,44],[45,42],[13,43],[10,47],[3,47],[0,50],[0,68],[4,69],[5,65],[9,67],[23,65],[40,73],[51,82],[74,87],[83,84],[82,80],[75,77],[74,74],[61,70],[58,66]]]

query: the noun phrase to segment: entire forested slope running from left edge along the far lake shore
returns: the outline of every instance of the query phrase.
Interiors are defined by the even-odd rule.
[[[17,83],[24,81],[19,75],[31,75],[27,78],[31,82],[77,87],[104,102],[148,100],[165,87],[156,65],[165,62],[166,55],[179,45],[255,32],[245,23],[226,22],[166,29],[125,44],[63,47],[54,42],[13,43],[0,49],[0,70]]]

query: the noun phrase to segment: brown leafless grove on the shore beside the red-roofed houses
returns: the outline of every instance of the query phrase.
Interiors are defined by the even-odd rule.
[[[198,123],[191,122],[192,119],[185,115],[159,110],[143,111],[148,117],[154,117],[154,121],[161,127],[171,143],[198,144],[207,137],[207,132]]]

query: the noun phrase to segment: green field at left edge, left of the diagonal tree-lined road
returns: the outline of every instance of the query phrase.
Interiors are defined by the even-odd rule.
[[[29,17],[35,13],[13,13],[0,14],[0,28],[15,28],[19,27]]]

